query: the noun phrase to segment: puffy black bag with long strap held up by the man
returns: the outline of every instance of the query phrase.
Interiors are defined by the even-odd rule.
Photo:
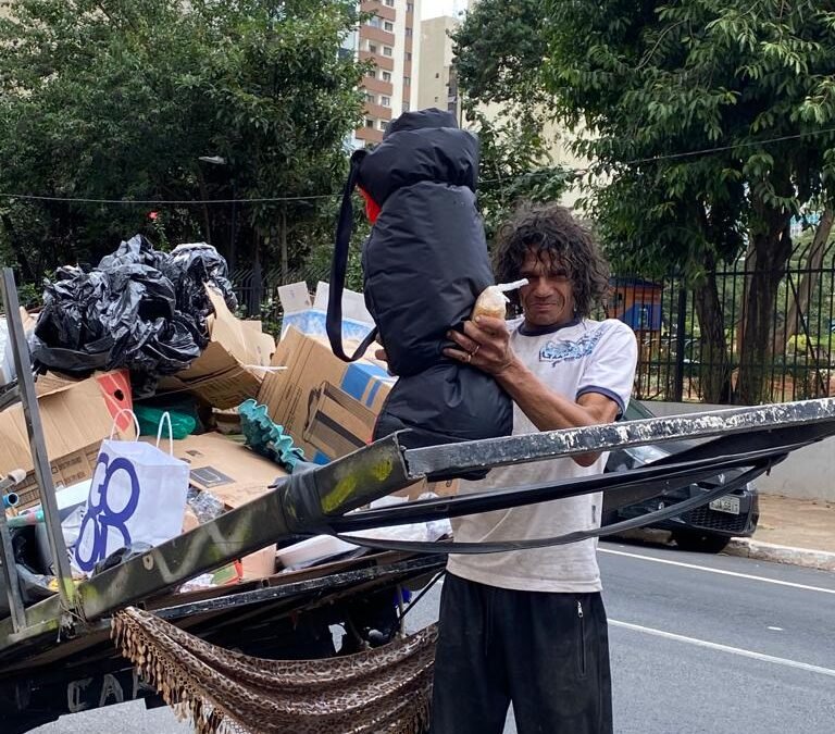
[[[461,328],[478,295],[494,284],[475,207],[477,176],[477,139],[460,129],[452,114],[434,109],[404,113],[379,146],[351,157],[331,273],[327,334],[334,353],[345,361],[358,359],[377,337],[399,377],[381,410],[375,439],[410,430],[403,444],[413,448],[512,432],[512,402],[498,383],[443,354],[453,346],[447,332]],[[354,187],[374,222],[362,269],[365,304],[376,329],[349,357],[342,349],[341,300]]]

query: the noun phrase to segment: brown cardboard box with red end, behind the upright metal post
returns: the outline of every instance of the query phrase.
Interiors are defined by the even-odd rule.
[[[48,373],[38,378],[36,393],[55,486],[71,486],[92,476],[99,447],[114,420],[120,434],[133,435],[130,416],[119,414],[133,407],[126,370],[97,373],[87,380]],[[0,413],[0,474],[13,469],[27,472],[15,492],[21,507],[32,507],[39,497],[22,406]]]

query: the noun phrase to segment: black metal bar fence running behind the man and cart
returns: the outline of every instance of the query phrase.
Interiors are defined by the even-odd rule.
[[[606,308],[596,314],[626,322],[638,338],[635,396],[643,400],[738,402],[740,365],[762,376],[760,401],[800,400],[835,395],[835,248],[811,252],[796,248],[780,281],[771,313],[768,349],[752,360],[743,353],[746,302],[751,282],[762,275],[740,260],[716,270],[718,320],[722,349],[705,336],[696,290],[676,274],[660,279],[612,278]],[[771,274],[769,274],[771,275]],[[241,313],[277,331],[282,318],[278,288],[307,282],[312,289],[327,272],[300,269],[283,275],[258,269],[233,276]],[[715,328],[719,326],[719,328]],[[724,383],[716,387],[718,378]],[[711,384],[712,381],[712,384]]]

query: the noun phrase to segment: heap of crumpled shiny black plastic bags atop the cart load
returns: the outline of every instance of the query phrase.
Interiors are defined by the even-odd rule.
[[[45,284],[33,357],[41,368],[78,376],[127,368],[134,396],[151,396],[158,377],[187,369],[209,343],[204,284],[236,303],[226,274],[209,245],[169,254],[137,235],[98,268],[61,268]]]

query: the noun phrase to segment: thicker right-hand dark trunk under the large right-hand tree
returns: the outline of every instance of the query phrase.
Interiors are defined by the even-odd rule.
[[[760,207],[758,217],[763,228],[751,235],[757,264],[746,294],[736,389],[736,402],[751,406],[772,399],[774,309],[777,287],[792,256],[790,214],[763,210],[764,206]]]

